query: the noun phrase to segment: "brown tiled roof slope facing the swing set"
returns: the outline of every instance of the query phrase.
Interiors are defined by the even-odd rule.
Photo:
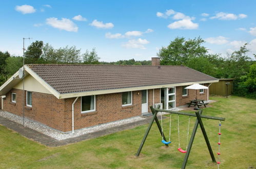
[[[216,80],[184,66],[28,65],[59,93]]]

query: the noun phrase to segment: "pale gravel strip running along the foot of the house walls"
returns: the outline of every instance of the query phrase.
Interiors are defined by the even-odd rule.
[[[12,114],[12,113],[9,113],[6,111],[0,111],[0,116],[5,117],[5,118],[7,118],[11,121],[14,121],[16,123],[23,124],[23,117],[21,117],[21,116],[17,116],[15,114]],[[43,133],[47,136],[50,136],[56,140],[65,140],[68,138],[81,136],[83,134],[93,133],[96,131],[104,130],[106,128],[112,128],[114,126],[119,126],[119,125],[131,123],[131,122],[135,122],[135,121],[140,121],[140,120],[144,120],[144,119],[145,118],[142,118],[139,116],[131,117],[131,118],[127,118],[127,119],[123,119],[123,120],[119,120],[119,121],[113,121],[113,122],[108,122],[105,124],[94,125],[89,128],[75,130],[75,133],[63,133],[63,132],[57,131],[53,128],[50,128],[49,126],[47,126],[45,124],[42,124],[40,122],[31,120],[28,118],[25,118],[25,126],[30,129],[33,129],[37,132]]]

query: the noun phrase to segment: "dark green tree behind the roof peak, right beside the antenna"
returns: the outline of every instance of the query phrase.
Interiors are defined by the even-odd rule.
[[[36,40],[28,47],[24,53],[26,64],[38,64],[38,62],[40,62],[39,59],[43,53],[43,46],[43,41]]]

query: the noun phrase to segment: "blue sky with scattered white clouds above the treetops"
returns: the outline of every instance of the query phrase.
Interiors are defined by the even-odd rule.
[[[201,37],[209,53],[248,43],[256,53],[256,1],[1,1],[0,51],[22,55],[35,40],[96,48],[101,61],[150,60],[175,37]]]

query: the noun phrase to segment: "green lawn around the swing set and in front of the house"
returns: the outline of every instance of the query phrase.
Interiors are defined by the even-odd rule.
[[[225,117],[222,122],[222,168],[256,167],[256,100],[231,96],[204,109],[204,115]],[[46,147],[0,125],[0,168],[180,168],[177,116],[172,115],[171,145],[165,148],[153,124],[140,158],[135,158],[147,125],[60,147]],[[190,133],[195,118],[190,119]],[[188,117],[180,116],[181,146],[186,148]],[[218,120],[203,119],[214,154],[218,151]],[[168,135],[169,119],[164,119]],[[200,128],[196,133],[187,168],[216,168]]]

